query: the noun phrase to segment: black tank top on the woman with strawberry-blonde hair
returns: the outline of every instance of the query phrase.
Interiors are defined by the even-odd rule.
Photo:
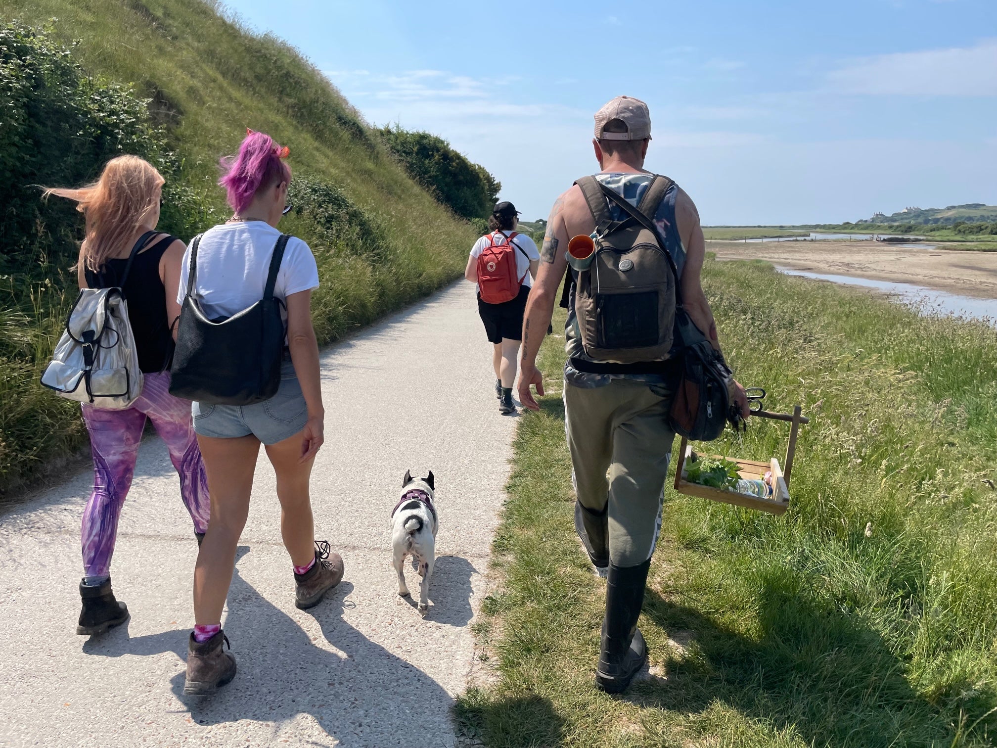
[[[166,288],[160,278],[160,259],[175,236],[166,236],[135,255],[122,290],[128,300],[128,316],[135,334],[139,368],[145,374],[165,370],[173,354],[173,338],[166,321]],[[86,271],[91,288],[120,286],[128,257],[107,260],[100,272]]]

